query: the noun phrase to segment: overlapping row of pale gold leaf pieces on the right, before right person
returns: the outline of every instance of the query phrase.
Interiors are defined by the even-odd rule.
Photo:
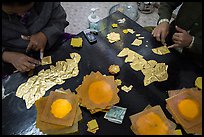
[[[144,85],[147,86],[154,81],[165,81],[168,79],[167,68],[165,63],[157,63],[155,60],[146,61],[142,55],[124,48],[118,55],[118,57],[125,57],[125,63],[130,63],[130,67],[135,70],[141,70],[145,75]]]

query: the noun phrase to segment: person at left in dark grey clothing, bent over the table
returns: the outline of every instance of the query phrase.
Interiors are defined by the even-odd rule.
[[[68,25],[60,2],[2,2],[3,75],[34,69],[39,58],[28,55],[49,50]]]

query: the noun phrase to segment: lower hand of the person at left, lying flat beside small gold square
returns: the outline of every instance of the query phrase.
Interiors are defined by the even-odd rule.
[[[5,62],[11,63],[20,72],[30,71],[40,64],[40,61],[18,52],[5,51],[2,58]]]

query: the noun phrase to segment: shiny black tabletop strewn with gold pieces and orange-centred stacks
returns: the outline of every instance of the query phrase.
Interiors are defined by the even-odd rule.
[[[112,28],[112,23],[117,23],[118,19],[126,18],[124,24],[120,24],[118,28]],[[167,91],[181,88],[194,87],[195,79],[201,75],[201,70],[193,65],[188,59],[181,56],[175,50],[171,50],[170,54],[156,55],[151,49],[160,46],[160,43],[151,36],[149,32],[138,25],[133,20],[120,12],[115,12],[103,19],[100,23],[100,32],[97,35],[97,43],[89,44],[83,33],[79,33],[77,37],[83,38],[82,48],[73,48],[70,46],[70,40],[64,42],[54,52],[49,52],[47,55],[52,56],[52,62],[65,60],[70,58],[69,53],[77,52],[81,55],[79,62],[79,75],[70,79],[62,85],[56,85],[46,92],[49,95],[50,91],[63,87],[64,89],[75,89],[82,83],[83,77],[91,73],[91,71],[100,71],[102,74],[109,75],[108,67],[112,64],[118,64],[121,71],[115,79],[121,79],[123,85],[133,85],[133,89],[126,93],[119,91],[120,102],[116,106],[127,108],[122,124],[111,123],[104,119],[104,112],[91,114],[86,108],[81,107],[83,119],[79,122],[79,131],[76,134],[89,135],[92,134],[87,130],[87,122],[91,119],[96,119],[99,125],[99,130],[96,134],[101,135],[133,135],[130,129],[131,121],[129,116],[141,112],[147,105],[160,105],[166,114],[167,118],[172,120],[171,114],[166,110],[165,99],[168,98]],[[131,43],[136,38],[135,34],[124,34],[123,29],[132,28],[136,33],[144,36],[141,46],[131,46]],[[110,44],[106,39],[106,35],[110,32],[120,33],[121,40]],[[148,45],[148,47],[145,47]],[[156,60],[164,62],[168,65],[168,79],[163,82],[153,82],[148,86],[144,86],[144,75],[141,71],[134,71],[129,63],[124,62],[124,58],[118,58],[117,54],[125,47],[136,51],[144,56],[146,60]],[[46,53],[45,53],[46,54]],[[34,70],[37,74],[41,69],[47,69],[48,66],[40,66]],[[2,99],[2,134],[26,134],[25,131],[29,127],[35,126],[36,108],[33,105],[29,110],[26,109],[25,102],[15,96],[18,86],[28,79],[27,74],[15,73],[9,79],[2,80],[5,88],[5,93],[10,93],[9,96]],[[120,88],[119,88],[120,89]],[[186,132],[180,125],[183,134]]]

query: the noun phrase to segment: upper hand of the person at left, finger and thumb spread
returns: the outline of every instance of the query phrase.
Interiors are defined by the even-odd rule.
[[[29,40],[30,41],[26,51],[29,51],[29,50],[32,49],[32,50],[35,50],[35,51],[43,52],[44,49],[45,49],[45,46],[47,44],[47,37],[42,32],[33,34],[31,36],[21,35],[21,38],[24,39],[24,40]]]

